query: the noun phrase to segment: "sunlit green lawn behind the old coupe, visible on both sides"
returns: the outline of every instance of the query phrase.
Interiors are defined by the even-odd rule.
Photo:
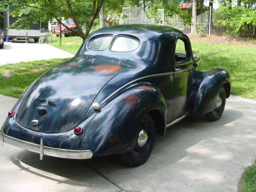
[[[76,54],[82,38],[53,37],[52,46]],[[232,94],[256,99],[256,47],[192,42],[192,50],[201,56],[202,70],[223,68],[230,72]],[[44,71],[66,59],[21,62],[0,66],[0,94],[18,98],[25,88]]]

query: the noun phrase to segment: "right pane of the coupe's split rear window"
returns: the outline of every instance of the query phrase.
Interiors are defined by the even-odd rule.
[[[138,46],[138,40],[130,37],[118,36],[114,40],[111,46],[111,50],[115,52],[127,52],[135,50],[136,48],[138,48]]]

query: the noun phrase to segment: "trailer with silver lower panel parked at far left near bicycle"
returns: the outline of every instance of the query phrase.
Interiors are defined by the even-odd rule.
[[[4,28],[8,28],[10,25],[12,25],[14,22],[16,22],[17,18],[14,18],[10,15],[8,11],[4,11]],[[20,30],[17,30],[15,28],[7,29],[7,36],[9,39],[20,39],[20,40],[26,40],[28,39],[34,39],[34,42],[38,42],[40,38],[40,28],[41,28],[41,22],[38,21],[37,24],[33,24],[32,21],[29,24],[29,29],[25,29],[24,27]]]

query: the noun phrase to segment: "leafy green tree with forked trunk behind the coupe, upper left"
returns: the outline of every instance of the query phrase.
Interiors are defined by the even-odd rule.
[[[29,26],[29,20],[34,23],[38,20],[48,22],[57,20],[68,30],[80,36],[83,40],[88,36],[95,18],[98,16],[102,6],[112,10],[121,10],[122,0],[4,0],[0,4],[0,11],[9,10],[14,17],[22,15],[12,27],[21,28]],[[69,28],[62,22],[65,19],[73,18],[78,31]],[[86,24],[86,30],[82,30],[82,24]]]

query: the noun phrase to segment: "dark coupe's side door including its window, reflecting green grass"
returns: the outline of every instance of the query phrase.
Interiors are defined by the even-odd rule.
[[[188,38],[176,40],[174,53],[174,119],[189,112],[192,106],[195,68]]]

